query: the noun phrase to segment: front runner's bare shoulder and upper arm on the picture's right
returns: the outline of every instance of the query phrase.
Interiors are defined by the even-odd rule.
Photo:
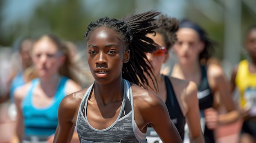
[[[133,91],[137,92],[133,92],[133,99],[135,122],[139,123],[140,130],[142,128],[146,132],[147,124],[150,124],[164,143],[182,143],[180,134],[170,119],[164,101],[154,92],[139,86],[137,89],[133,88]]]

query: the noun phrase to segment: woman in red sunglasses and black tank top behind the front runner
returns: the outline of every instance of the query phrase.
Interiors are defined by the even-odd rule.
[[[157,80],[158,90],[148,88],[161,97],[165,102],[171,120],[176,126],[182,140],[184,139],[184,125],[188,123],[191,141],[195,143],[204,143],[200,126],[200,112],[197,99],[197,88],[192,81],[185,81],[160,74],[162,64],[167,62],[171,49],[177,40],[176,31],[178,30],[178,21],[175,18],[169,18],[167,15],[160,15],[155,24],[160,25],[155,29],[155,34],[148,34],[148,37],[154,40],[161,48],[153,53],[147,53],[148,65],[153,71]],[[153,83],[149,83],[153,86]],[[148,128],[148,140],[157,141],[154,130]],[[153,134],[153,135],[152,135]]]

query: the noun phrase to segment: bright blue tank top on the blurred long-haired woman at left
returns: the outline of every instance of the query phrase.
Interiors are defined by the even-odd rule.
[[[58,125],[58,106],[65,97],[65,83],[67,77],[62,77],[52,103],[43,108],[37,108],[32,103],[33,92],[39,84],[39,79],[31,81],[31,87],[22,101],[22,112],[24,116],[25,136],[49,136],[55,133]]]

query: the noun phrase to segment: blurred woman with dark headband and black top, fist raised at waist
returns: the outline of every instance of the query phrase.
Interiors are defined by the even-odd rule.
[[[217,64],[203,64],[213,52],[213,44],[207,34],[189,20],[180,22],[177,31],[174,53],[178,62],[173,66],[171,76],[194,81],[198,87],[199,108],[202,131],[206,143],[214,143],[214,129],[218,124],[232,123],[238,120],[239,113],[231,97],[229,82],[222,68]],[[227,114],[216,111],[217,94],[220,103],[227,109]]]

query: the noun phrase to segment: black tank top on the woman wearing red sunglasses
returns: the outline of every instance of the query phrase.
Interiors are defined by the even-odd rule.
[[[186,119],[182,114],[182,110],[180,109],[180,105],[177,101],[175,92],[173,90],[173,86],[171,84],[170,79],[164,76],[165,86],[166,86],[166,102],[165,105],[168,109],[171,120],[173,121],[175,127],[180,133],[180,137],[183,141],[184,139],[184,126],[186,123]]]

